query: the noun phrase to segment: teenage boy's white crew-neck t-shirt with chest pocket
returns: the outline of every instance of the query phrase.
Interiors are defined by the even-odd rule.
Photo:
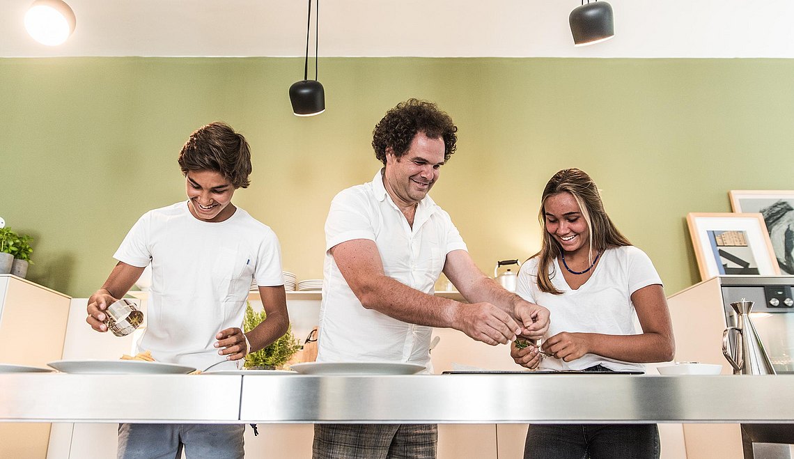
[[[156,361],[204,369],[222,361],[215,335],[239,327],[251,280],[283,285],[276,233],[237,207],[223,222],[195,218],[187,201],[149,210],[114,254],[137,267],[152,263],[146,331],[138,343]],[[234,369],[229,361],[214,369]]]

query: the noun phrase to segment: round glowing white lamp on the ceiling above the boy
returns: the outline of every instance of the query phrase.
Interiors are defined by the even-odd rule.
[[[36,0],[25,13],[25,29],[48,46],[64,43],[75,31],[75,12],[62,0]]]

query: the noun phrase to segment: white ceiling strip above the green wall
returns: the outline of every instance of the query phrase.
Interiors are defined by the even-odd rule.
[[[75,33],[37,44],[27,0],[0,2],[0,56],[303,56],[306,1],[68,0]],[[794,57],[788,0],[609,0],[615,38],[574,48],[575,0],[343,0],[320,6],[320,56]],[[312,28],[314,29],[314,28]],[[314,31],[312,32],[314,36]],[[312,42],[314,52],[314,41]]]

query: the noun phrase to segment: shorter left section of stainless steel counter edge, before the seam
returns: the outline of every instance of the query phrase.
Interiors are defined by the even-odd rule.
[[[242,376],[0,374],[0,421],[236,422]]]

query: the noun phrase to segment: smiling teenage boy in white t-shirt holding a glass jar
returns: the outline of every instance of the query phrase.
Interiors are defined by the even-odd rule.
[[[187,201],[150,210],[114,254],[118,264],[88,300],[87,322],[106,332],[107,307],[152,264],[140,349],[156,361],[203,370],[234,369],[287,331],[287,301],[276,233],[232,204],[249,185],[251,153],[241,134],[214,122],[179,152]],[[243,334],[251,280],[267,320]],[[118,457],[243,457],[245,424],[130,424],[118,427]]]

